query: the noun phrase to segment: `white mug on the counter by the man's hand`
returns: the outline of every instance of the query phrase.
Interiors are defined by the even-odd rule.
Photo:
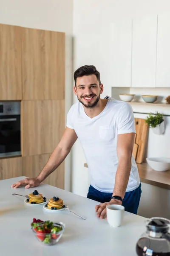
[[[119,227],[122,223],[125,207],[119,204],[111,204],[106,207],[108,224],[111,227]]]

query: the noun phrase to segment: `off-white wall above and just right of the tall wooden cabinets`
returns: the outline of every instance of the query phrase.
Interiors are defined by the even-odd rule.
[[[73,0],[0,0],[0,23],[65,32],[65,113],[72,104]],[[65,161],[65,189],[70,190],[71,155]]]

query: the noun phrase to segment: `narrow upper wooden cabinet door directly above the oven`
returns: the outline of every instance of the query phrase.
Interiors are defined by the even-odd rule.
[[[22,99],[21,30],[0,24],[0,100]]]

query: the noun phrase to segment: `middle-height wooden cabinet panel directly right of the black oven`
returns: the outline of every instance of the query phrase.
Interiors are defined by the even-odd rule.
[[[65,100],[23,101],[23,156],[52,153],[65,129]]]

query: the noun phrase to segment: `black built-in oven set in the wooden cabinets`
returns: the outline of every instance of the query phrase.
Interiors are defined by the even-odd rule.
[[[21,155],[20,102],[0,102],[0,157]]]

